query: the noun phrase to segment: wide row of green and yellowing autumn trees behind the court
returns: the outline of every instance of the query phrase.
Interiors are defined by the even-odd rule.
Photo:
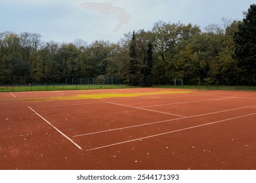
[[[149,31],[123,35],[117,43],[87,44],[81,39],[43,42],[38,33],[3,32],[0,84],[64,83],[67,78],[116,76],[125,84],[147,86],[171,84],[181,78],[184,84],[201,80],[236,85],[239,80],[253,85],[255,53],[246,58],[246,49],[241,52],[238,45],[250,10],[255,10],[255,5],[243,21],[223,18],[221,24],[208,25],[203,31],[198,25],[160,21]],[[254,40],[255,34],[247,39]]]

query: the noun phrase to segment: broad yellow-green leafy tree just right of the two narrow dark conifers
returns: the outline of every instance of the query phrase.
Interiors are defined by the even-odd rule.
[[[157,22],[154,24],[154,48],[156,61],[154,63],[154,80],[158,84],[168,84],[175,78],[183,78],[184,63],[181,59],[188,44],[194,40],[195,35],[200,35],[197,25],[184,25]],[[193,54],[193,53],[192,53]],[[188,64],[186,64],[188,65]]]

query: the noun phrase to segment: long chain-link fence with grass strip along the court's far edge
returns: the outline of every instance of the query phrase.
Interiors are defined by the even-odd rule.
[[[130,75],[129,78],[119,76],[100,75],[91,78],[65,78],[61,83],[28,83],[28,84],[0,84],[0,92],[28,92],[28,91],[54,91],[54,90],[88,90],[107,88],[133,88],[133,87],[157,87],[157,88],[187,88],[197,90],[256,90],[256,86],[244,86],[237,79],[236,84],[226,85],[219,80],[183,78],[154,78],[142,75]]]

